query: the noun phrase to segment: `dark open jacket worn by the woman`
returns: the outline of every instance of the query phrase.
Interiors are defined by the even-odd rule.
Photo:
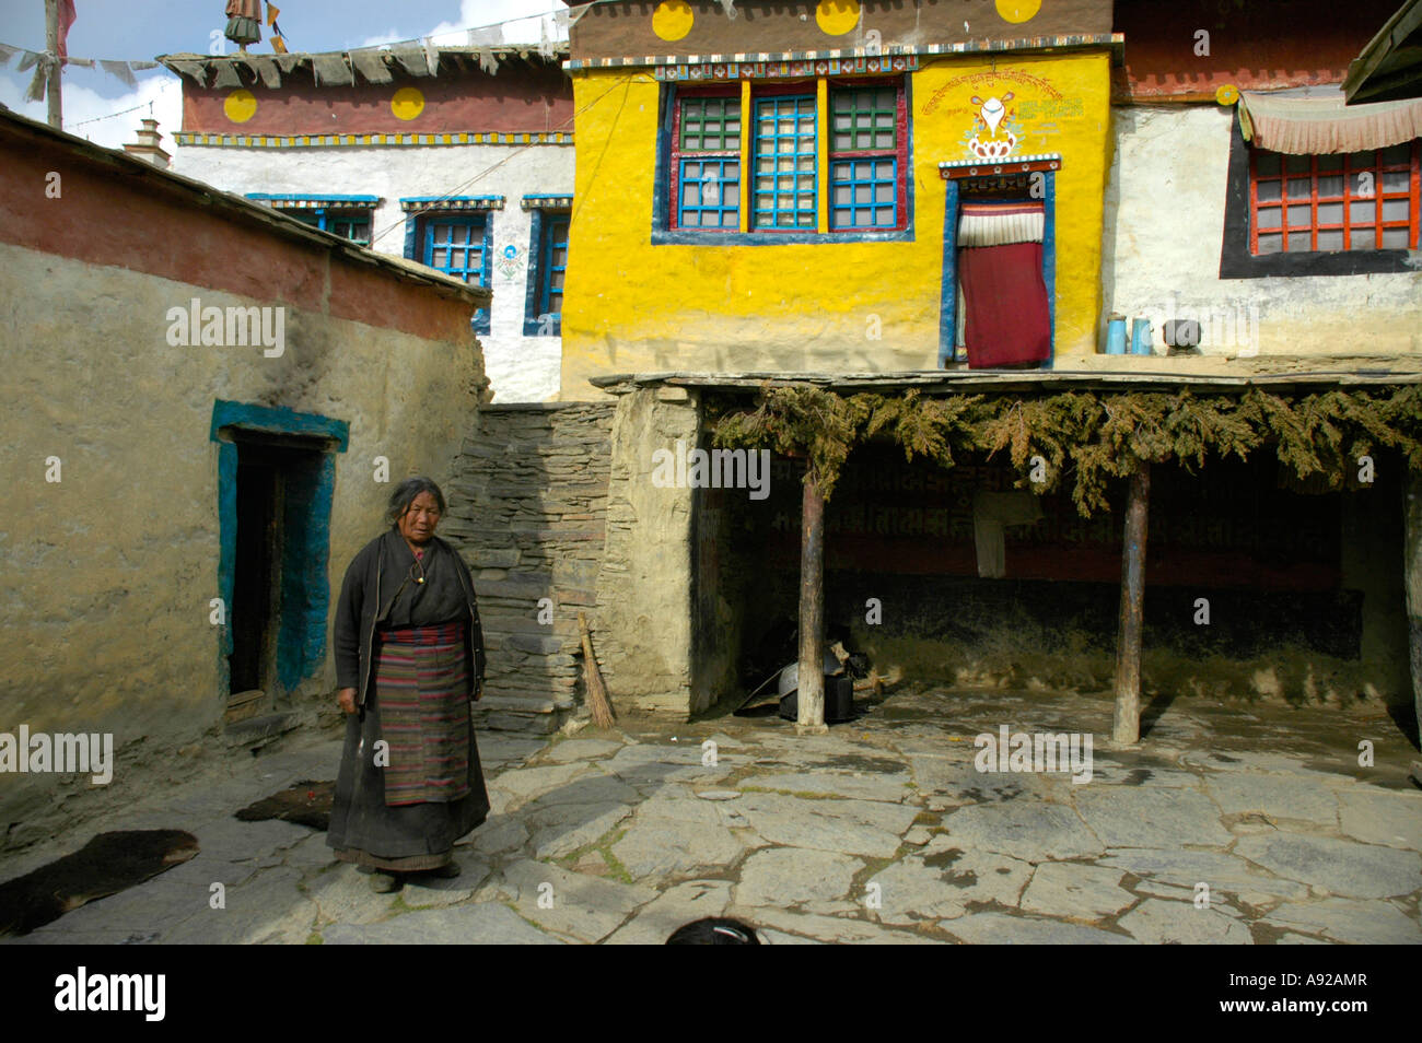
[[[336,685],[354,688],[356,705],[365,705],[374,672],[375,624],[390,612],[390,604],[400,587],[400,570],[390,561],[387,539],[402,539],[394,529],[367,543],[351,558],[336,602]],[[464,558],[438,536],[431,537],[438,550],[454,558],[455,575],[469,601],[469,654],[474,658],[472,688],[483,686],[483,627],[479,625],[479,605],[474,595],[474,577]],[[474,692],[471,691],[471,695]]]

